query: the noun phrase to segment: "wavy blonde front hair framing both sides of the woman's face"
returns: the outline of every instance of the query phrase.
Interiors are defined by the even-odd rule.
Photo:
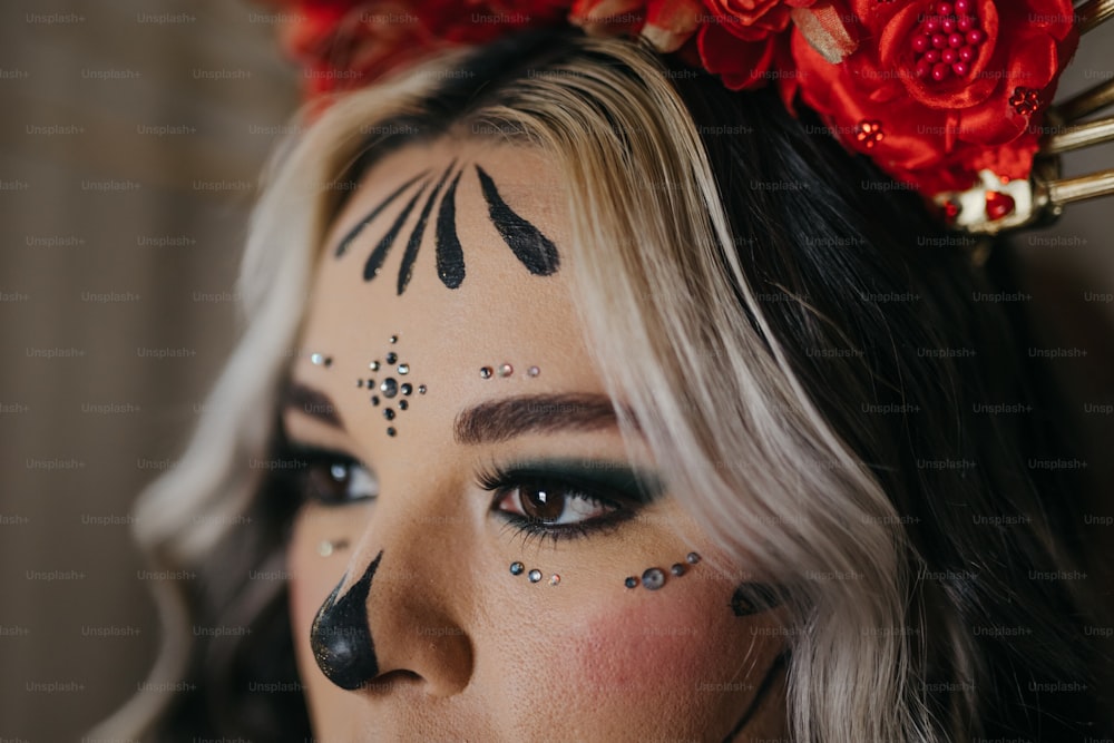
[[[974,691],[952,695],[946,720],[924,691],[928,619],[909,608],[920,558],[902,515],[794,372],[668,69],[625,41],[568,37],[561,49],[537,74],[518,70],[476,94],[442,130],[401,145],[499,131],[561,168],[573,235],[563,251],[609,393],[627,402],[673,491],[735,567],[782,587],[799,629],[786,633],[793,739],[973,734]],[[159,567],[202,561],[260,489],[262,473],[246,462],[265,457],[272,420],[260,411],[274,409],[316,252],[343,199],[329,185],[365,154],[399,145],[361,131],[431,118],[424,101],[449,85],[463,53],[335,101],[276,157],[244,255],[246,333],[179,466],[136,508],[136,536]],[[834,324],[794,301],[811,322]],[[628,434],[633,424],[624,421]],[[182,680],[192,641],[182,592],[157,589],[166,635],[148,680],[155,690]],[[947,663],[964,677],[976,664],[969,633],[942,623],[935,630],[948,638]],[[164,700],[137,695],[100,734],[147,729]]]

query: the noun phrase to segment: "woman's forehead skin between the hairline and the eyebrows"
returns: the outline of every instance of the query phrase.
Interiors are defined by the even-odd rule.
[[[446,172],[449,175],[442,179]],[[443,238],[439,233],[446,229],[438,219],[453,180],[451,226],[463,274],[450,287],[439,275],[438,243]],[[559,257],[556,271],[539,275],[516,255],[506,225],[500,231],[499,218],[494,218],[492,189],[506,209],[553,244]],[[398,195],[389,199],[392,194]],[[424,229],[419,229],[427,203]],[[330,355],[334,363],[321,375],[303,356],[295,364],[295,377],[340,395],[334,399],[342,410],[349,408],[349,397],[369,397],[358,384],[369,379],[378,384],[369,364],[385,363],[389,353],[409,364],[416,388],[428,385],[422,403],[451,400],[456,409],[502,394],[598,391],[567,278],[565,204],[557,168],[534,149],[440,143],[411,146],[379,162],[330,226],[310,297],[303,348]],[[336,245],[371,213],[374,218],[336,256]],[[522,228],[518,226],[519,232]],[[384,237],[392,232],[394,238],[384,251]],[[365,277],[377,248],[382,255],[378,273]],[[399,275],[408,263],[409,281],[400,293]],[[514,370],[508,377],[498,374],[504,364]],[[490,379],[481,375],[485,366],[496,372]],[[530,366],[540,373],[530,377]],[[377,413],[367,407],[356,414]],[[351,418],[351,411],[344,417]]]

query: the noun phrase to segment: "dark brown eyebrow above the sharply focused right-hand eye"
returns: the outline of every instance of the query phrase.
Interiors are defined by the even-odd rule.
[[[624,417],[634,420],[628,411]],[[618,413],[607,395],[531,394],[482,402],[465,410],[453,422],[453,438],[462,444],[497,443],[524,433],[617,427]]]

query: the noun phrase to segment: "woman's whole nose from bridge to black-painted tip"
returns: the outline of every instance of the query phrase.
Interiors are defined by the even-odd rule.
[[[466,518],[459,499],[436,487],[414,482],[381,498],[314,619],[317,665],[342,688],[378,693],[405,680],[448,696],[471,677],[471,581],[459,569]]]

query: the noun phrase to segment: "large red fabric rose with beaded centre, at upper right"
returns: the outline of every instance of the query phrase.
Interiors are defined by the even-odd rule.
[[[926,195],[980,168],[1027,178],[1040,115],[1075,51],[1071,0],[847,0],[860,39],[832,65],[794,32],[801,100],[851,149]]]

